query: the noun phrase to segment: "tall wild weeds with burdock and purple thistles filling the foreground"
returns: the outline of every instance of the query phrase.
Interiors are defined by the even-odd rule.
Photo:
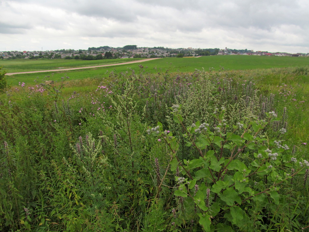
[[[154,70],[1,95],[0,229],[308,230],[309,69]]]

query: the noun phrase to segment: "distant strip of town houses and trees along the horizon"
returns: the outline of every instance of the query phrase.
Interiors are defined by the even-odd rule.
[[[307,56],[309,53],[290,54],[286,52],[271,53],[268,51],[253,51],[248,49],[195,49],[195,48],[164,48],[164,47],[137,47],[126,45],[124,47],[91,47],[83,49],[60,49],[43,51],[0,51],[1,59],[76,59],[100,60],[115,58],[164,58],[164,57],[190,57],[209,55],[256,55],[256,56]]]

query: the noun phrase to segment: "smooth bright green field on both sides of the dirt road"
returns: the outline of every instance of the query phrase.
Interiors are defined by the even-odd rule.
[[[7,72],[15,71],[36,71],[48,70],[57,67],[82,67],[91,65],[107,64],[106,62],[127,62],[130,59],[113,59],[104,61],[72,61],[72,60],[7,60],[0,61]],[[18,62],[21,62],[21,67],[18,69]],[[34,63],[32,63],[34,62]],[[165,72],[169,73],[185,73],[194,72],[195,69],[209,70],[210,68],[218,71],[222,70],[255,70],[267,68],[281,67],[306,67],[309,65],[309,58],[306,57],[266,57],[266,56],[204,56],[199,58],[162,58],[154,61],[143,62],[142,65],[146,68],[147,73]],[[94,69],[76,70],[76,71],[59,71],[53,72],[53,79],[57,80],[61,76],[67,74],[70,79],[86,79],[86,78],[106,78],[109,72],[116,71],[118,73],[135,69],[138,71],[138,64],[126,64],[120,66],[100,67]],[[15,86],[19,82],[26,84],[33,83],[36,79],[41,81],[45,76],[51,76],[52,72],[19,74],[8,76],[8,84]]]

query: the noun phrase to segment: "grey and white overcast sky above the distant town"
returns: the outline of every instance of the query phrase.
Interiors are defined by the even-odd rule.
[[[308,53],[308,0],[0,0],[0,51],[137,45]]]

